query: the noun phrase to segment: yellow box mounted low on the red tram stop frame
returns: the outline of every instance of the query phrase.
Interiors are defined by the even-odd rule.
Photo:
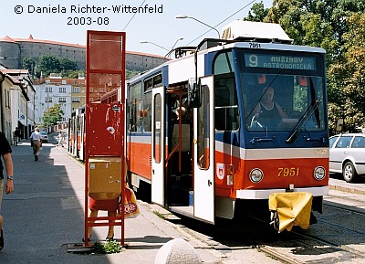
[[[89,196],[95,200],[115,199],[121,190],[121,158],[89,158]]]

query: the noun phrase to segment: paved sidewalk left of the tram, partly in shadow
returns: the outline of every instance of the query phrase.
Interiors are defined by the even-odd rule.
[[[125,220],[128,248],[110,255],[68,253],[70,246],[82,243],[84,232],[83,164],[53,143],[43,144],[38,162],[30,143],[22,142],[12,149],[15,192],[4,195],[3,200],[5,248],[0,251],[1,264],[153,263],[158,250],[172,238],[191,240],[204,263],[220,262],[215,250],[197,247],[193,238],[141,202],[141,215]],[[104,240],[107,228],[94,227],[91,243]],[[114,238],[120,238],[120,227],[115,227]]]

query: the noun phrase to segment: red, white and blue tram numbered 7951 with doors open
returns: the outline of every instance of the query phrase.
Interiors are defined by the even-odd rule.
[[[291,45],[274,24],[235,21],[223,36],[178,48],[181,58],[128,81],[130,184],[147,184],[153,203],[209,223],[233,218],[239,201],[255,205],[272,194],[309,194],[321,211],[325,51]],[[279,117],[265,113],[269,90]]]

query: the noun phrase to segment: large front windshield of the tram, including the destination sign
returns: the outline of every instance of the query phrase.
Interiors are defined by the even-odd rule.
[[[326,129],[322,56],[272,51],[238,54],[248,131]]]

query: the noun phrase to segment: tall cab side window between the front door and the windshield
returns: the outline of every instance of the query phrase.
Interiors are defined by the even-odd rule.
[[[235,131],[239,128],[235,69],[231,52],[221,53],[214,61],[215,129]]]

